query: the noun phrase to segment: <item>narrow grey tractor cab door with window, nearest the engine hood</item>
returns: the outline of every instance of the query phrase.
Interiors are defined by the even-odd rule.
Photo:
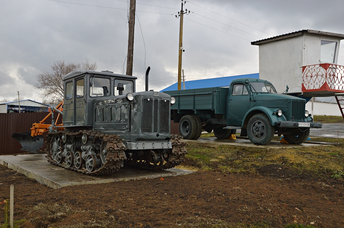
[[[75,80],[75,125],[85,124],[85,79]]]

